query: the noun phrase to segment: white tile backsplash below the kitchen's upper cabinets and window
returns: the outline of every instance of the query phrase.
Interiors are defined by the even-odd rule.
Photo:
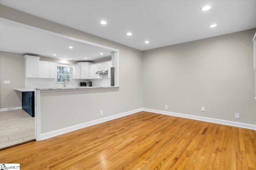
[[[66,87],[78,87],[80,82],[91,81],[92,86],[110,86],[110,78],[102,79],[73,79]],[[56,83],[55,78],[25,78],[25,88],[61,88],[64,83]]]

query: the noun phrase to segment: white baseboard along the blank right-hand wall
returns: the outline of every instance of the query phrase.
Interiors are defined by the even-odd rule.
[[[170,112],[170,111],[162,111],[162,110],[154,110],[154,109],[146,109],[146,108],[142,108],[142,111],[149,111],[149,112],[160,113],[160,114],[164,114],[164,115],[184,117],[184,118],[188,118],[188,119],[195,119],[195,120],[200,120],[200,121],[207,121],[207,122],[212,122],[212,123],[218,123],[218,124],[223,124],[223,125],[230,125],[230,126],[235,126],[235,127],[242,127],[242,128],[246,128],[246,129],[256,130],[256,125],[247,124],[247,123],[240,123],[240,122],[235,122],[235,121],[214,119],[214,118],[210,118],[210,117],[187,115],[187,114],[182,114],[182,113],[174,113],[174,112]]]

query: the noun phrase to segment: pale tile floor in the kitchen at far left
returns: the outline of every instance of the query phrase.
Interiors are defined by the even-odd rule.
[[[0,112],[0,148],[35,139],[35,118],[23,109]]]

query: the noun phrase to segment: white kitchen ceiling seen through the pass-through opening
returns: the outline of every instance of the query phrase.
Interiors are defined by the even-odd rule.
[[[98,61],[111,58],[113,52],[4,19],[0,19],[0,44],[0,51],[74,61]]]

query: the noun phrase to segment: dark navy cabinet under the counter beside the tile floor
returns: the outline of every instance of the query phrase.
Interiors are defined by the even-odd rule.
[[[31,117],[35,117],[34,92],[22,92],[22,109]]]

